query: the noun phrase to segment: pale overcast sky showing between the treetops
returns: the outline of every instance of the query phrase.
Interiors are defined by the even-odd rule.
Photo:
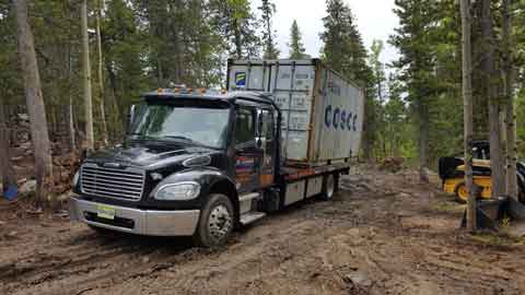
[[[293,20],[298,21],[303,35],[306,54],[318,57],[323,45],[319,33],[323,32],[322,19],[326,15],[325,0],[272,0],[277,13],[273,27],[277,31],[277,43],[282,57],[287,57],[290,38],[290,27]],[[387,44],[388,36],[398,25],[397,15],[394,14],[394,0],[345,0],[357,20],[358,28],[363,37],[366,48],[374,39],[382,39],[385,49],[381,57],[383,62],[390,62],[397,57],[395,48]],[[253,0],[254,11],[260,7],[260,0]]]

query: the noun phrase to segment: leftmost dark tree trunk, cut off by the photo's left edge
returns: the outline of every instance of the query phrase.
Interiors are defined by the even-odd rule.
[[[4,104],[4,102],[0,102],[0,180],[3,185],[3,193],[9,188],[16,186],[16,177],[11,164],[11,140],[5,120]]]

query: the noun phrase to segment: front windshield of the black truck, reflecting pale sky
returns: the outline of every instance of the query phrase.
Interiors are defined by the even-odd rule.
[[[222,149],[230,109],[224,106],[138,105],[130,135],[144,140],[184,141]]]

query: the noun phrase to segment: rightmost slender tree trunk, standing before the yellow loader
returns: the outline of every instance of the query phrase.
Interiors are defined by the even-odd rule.
[[[512,16],[509,11],[511,0],[502,2],[503,20],[503,95],[506,101],[505,108],[505,139],[506,139],[506,181],[505,193],[518,198],[516,181],[516,129],[513,99],[513,69],[512,69]]]

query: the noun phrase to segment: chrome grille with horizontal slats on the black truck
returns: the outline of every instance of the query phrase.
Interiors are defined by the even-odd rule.
[[[83,193],[114,199],[138,201],[144,189],[144,172],[135,168],[117,169],[84,164],[80,180]]]

